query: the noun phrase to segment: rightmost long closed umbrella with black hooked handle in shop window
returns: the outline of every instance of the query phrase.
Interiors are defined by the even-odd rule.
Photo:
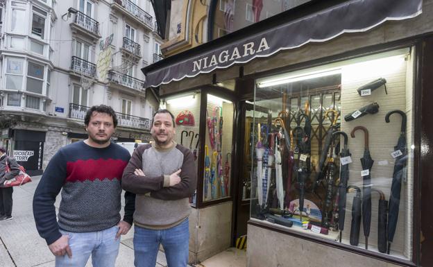
[[[398,113],[402,117],[402,124],[400,130],[400,137],[398,137],[397,146],[394,146],[394,151],[400,153],[396,154],[396,163],[394,164],[393,180],[391,183],[391,195],[389,196],[389,207],[388,207],[388,251],[391,247],[391,243],[396,233],[397,220],[398,220],[398,209],[400,207],[400,191],[402,177],[405,173],[405,166],[407,163],[407,146],[406,146],[406,114],[401,110],[392,110],[385,116],[385,121],[389,123],[389,117],[393,113]],[[401,154],[401,155],[400,155]]]

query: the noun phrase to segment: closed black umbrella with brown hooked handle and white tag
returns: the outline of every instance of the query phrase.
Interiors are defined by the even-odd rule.
[[[374,160],[370,156],[370,150],[368,149],[368,130],[364,126],[356,126],[350,132],[350,136],[355,138],[355,132],[357,130],[364,131],[364,156],[361,158],[362,164],[362,225],[364,227],[364,236],[366,249],[368,249],[368,236],[370,235],[370,224],[371,224],[371,166],[373,166]]]

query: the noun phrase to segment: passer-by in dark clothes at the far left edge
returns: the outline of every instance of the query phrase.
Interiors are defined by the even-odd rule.
[[[10,171],[6,172],[6,166]],[[6,180],[19,175],[19,164],[13,157],[6,155],[6,149],[0,146],[0,221],[12,220],[13,187],[3,187]]]

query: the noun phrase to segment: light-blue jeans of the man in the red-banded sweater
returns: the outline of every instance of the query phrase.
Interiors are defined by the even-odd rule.
[[[56,267],[85,267],[92,255],[93,267],[114,267],[119,253],[120,238],[116,240],[119,227],[113,226],[98,232],[67,232],[72,258],[56,256]]]

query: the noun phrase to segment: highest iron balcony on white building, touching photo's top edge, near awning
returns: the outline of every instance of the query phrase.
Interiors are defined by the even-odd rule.
[[[130,0],[113,0],[111,7],[123,12],[130,19],[142,24],[148,31],[153,31],[152,16]]]

